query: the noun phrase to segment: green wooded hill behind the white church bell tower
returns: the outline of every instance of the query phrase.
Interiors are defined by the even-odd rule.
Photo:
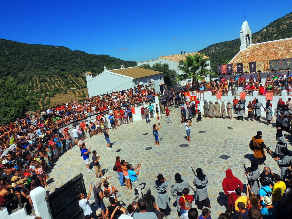
[[[289,37],[292,37],[292,12],[273,21],[260,31],[252,33],[251,41],[255,44]],[[212,44],[199,53],[210,57],[211,67],[217,70],[216,65],[225,64],[226,60],[230,61],[239,52],[239,48],[240,39],[235,39]]]

